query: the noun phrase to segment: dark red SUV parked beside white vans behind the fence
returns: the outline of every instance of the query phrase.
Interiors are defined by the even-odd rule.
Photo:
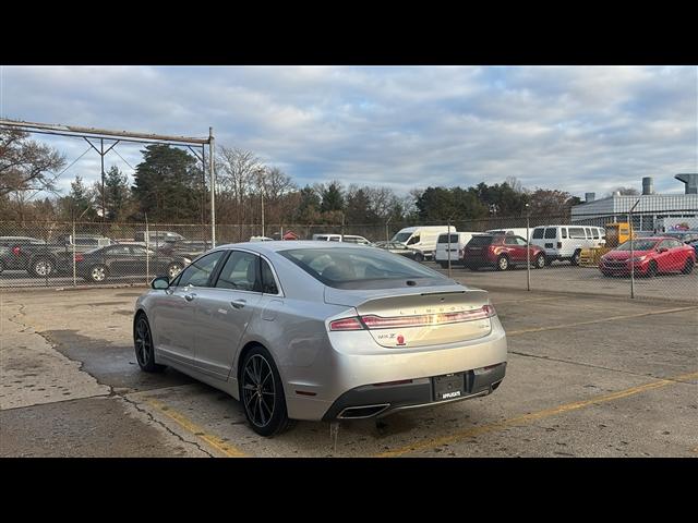
[[[496,267],[506,270],[515,265],[526,265],[527,243],[521,236],[512,234],[477,234],[462,250],[462,265],[470,270],[480,267]],[[545,251],[528,245],[529,259],[533,267],[545,267]]]

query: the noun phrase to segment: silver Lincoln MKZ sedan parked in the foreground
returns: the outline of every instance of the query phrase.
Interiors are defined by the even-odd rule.
[[[346,243],[224,245],[139,297],[139,365],[169,365],[240,400],[272,436],[491,393],[506,337],[482,290]]]

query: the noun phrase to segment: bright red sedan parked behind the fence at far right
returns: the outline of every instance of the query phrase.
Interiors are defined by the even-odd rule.
[[[633,251],[631,262],[629,241],[601,256],[599,269],[603,276],[627,276],[630,264],[636,275],[649,278],[660,272],[689,275],[696,265],[696,251],[675,238],[637,239],[633,241]]]

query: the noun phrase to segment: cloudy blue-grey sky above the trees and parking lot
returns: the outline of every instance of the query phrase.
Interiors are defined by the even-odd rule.
[[[0,66],[0,115],[204,137],[255,151],[299,184],[497,183],[597,197],[682,193],[698,171],[698,68]],[[47,138],[69,162],[88,147]],[[106,165],[131,174],[140,146]],[[87,153],[61,179],[99,178]]]

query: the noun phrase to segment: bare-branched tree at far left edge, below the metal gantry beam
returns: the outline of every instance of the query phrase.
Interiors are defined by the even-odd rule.
[[[58,150],[27,139],[28,133],[0,130],[0,196],[17,191],[51,191],[49,172],[65,165]]]

